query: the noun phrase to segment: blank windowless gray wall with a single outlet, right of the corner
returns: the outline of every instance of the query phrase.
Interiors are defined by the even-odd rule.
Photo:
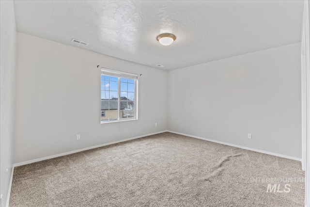
[[[168,80],[169,130],[301,158],[299,43],[173,70]]]

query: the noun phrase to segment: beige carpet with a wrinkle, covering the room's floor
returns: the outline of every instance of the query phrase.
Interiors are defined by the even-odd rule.
[[[167,132],[16,167],[10,207],[303,207],[302,179],[299,161]]]

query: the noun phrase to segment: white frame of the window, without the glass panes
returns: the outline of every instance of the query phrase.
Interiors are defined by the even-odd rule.
[[[112,70],[109,68],[101,68],[101,74],[100,74],[100,109],[101,109],[101,76],[113,76],[118,78],[118,110],[117,110],[117,120],[111,120],[111,121],[101,121],[101,110],[100,110],[100,124],[106,124],[106,123],[112,123],[112,122],[124,122],[124,121],[133,121],[138,120],[138,75],[134,73],[127,73],[123,71],[118,70]],[[135,84],[135,108],[134,108],[134,117],[133,118],[125,118],[120,119],[120,111],[121,111],[121,78],[124,79],[133,79]],[[106,115],[107,116],[107,115]]]

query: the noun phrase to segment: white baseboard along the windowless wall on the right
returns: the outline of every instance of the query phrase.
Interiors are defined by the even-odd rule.
[[[287,155],[281,155],[281,154],[278,154],[278,153],[267,152],[267,151],[263,151],[263,150],[260,150],[260,149],[254,149],[254,148],[250,148],[250,147],[246,147],[246,146],[240,146],[240,145],[237,145],[237,144],[231,144],[231,143],[225,143],[225,142],[221,142],[221,141],[217,141],[217,140],[211,140],[211,139],[202,138],[202,137],[198,137],[198,136],[193,136],[193,135],[189,135],[189,134],[179,133],[179,132],[176,132],[176,131],[170,131],[170,130],[167,130],[167,131],[171,132],[171,133],[174,133],[174,134],[180,134],[180,135],[184,135],[184,136],[187,136],[187,137],[192,137],[192,138],[196,138],[196,139],[200,139],[200,140],[205,140],[205,141],[209,141],[209,142],[213,142],[213,143],[225,144],[225,145],[228,145],[228,146],[238,147],[238,148],[241,148],[241,149],[247,149],[247,150],[250,150],[250,151],[260,152],[260,153],[264,153],[264,154],[267,154],[267,155],[273,155],[273,156],[277,156],[277,157],[280,157],[280,158],[286,158],[286,159],[293,159],[293,160],[301,161],[300,158],[295,158],[295,157],[291,157],[291,156],[287,156]]]

